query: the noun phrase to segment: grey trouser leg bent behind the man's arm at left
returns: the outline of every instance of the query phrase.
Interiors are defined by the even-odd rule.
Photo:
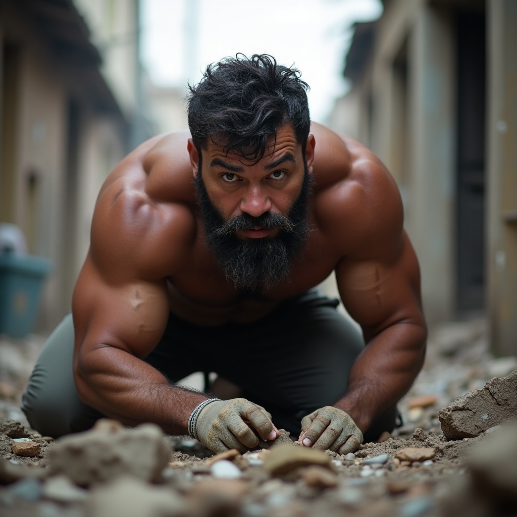
[[[73,343],[72,315],[67,314],[41,349],[22,397],[27,420],[43,436],[84,431],[102,417],[79,399],[72,371]]]

